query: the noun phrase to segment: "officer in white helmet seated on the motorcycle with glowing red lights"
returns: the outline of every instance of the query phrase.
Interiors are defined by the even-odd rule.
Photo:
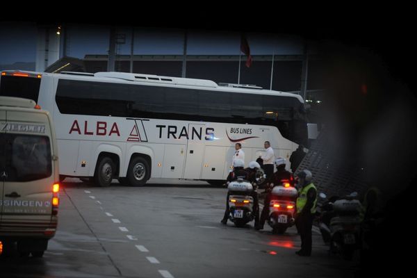
[[[293,174],[291,174],[291,172],[288,172],[285,169],[286,163],[285,163],[285,158],[277,158],[275,160],[275,165],[277,166],[277,172],[275,172],[272,177],[270,177],[270,184],[273,184],[273,186],[279,186],[279,184],[281,184],[284,181],[287,181],[291,184],[291,186],[294,186],[294,178],[293,178]],[[265,220],[267,220],[268,215],[269,215],[269,203],[270,200],[272,199],[272,187],[273,186],[268,186],[267,189],[265,191],[268,190],[267,195],[265,196],[265,201],[263,203],[263,209],[262,209],[262,213],[261,213],[261,220],[259,221],[259,226],[255,226],[255,229],[259,230],[259,229],[263,229],[263,224],[265,224]]]

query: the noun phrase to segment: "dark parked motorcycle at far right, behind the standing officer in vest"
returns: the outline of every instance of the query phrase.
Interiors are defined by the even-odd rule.
[[[351,260],[354,250],[359,249],[359,231],[361,202],[357,193],[327,200],[325,193],[319,197],[325,199],[320,206],[319,229],[325,243],[329,243],[330,252],[338,253],[344,259]]]

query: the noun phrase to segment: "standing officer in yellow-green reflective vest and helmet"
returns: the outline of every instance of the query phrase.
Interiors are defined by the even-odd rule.
[[[311,182],[313,175],[309,170],[302,170],[297,174],[297,183],[301,186],[298,191],[297,228],[301,236],[301,250],[295,252],[299,256],[311,256],[311,229],[313,215],[316,213],[317,189]]]

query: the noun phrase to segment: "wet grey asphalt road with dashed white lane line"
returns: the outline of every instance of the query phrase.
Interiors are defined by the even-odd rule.
[[[313,233],[300,257],[295,228],[256,231],[220,224],[225,188],[200,181],[152,179],[143,187],[115,181],[99,188],[67,179],[58,232],[42,259],[15,251],[0,257],[0,277],[353,277],[353,261],[329,255]]]

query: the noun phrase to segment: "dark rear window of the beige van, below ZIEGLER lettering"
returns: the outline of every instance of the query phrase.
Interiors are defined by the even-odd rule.
[[[52,174],[47,136],[0,134],[0,172],[6,181],[35,181]]]

